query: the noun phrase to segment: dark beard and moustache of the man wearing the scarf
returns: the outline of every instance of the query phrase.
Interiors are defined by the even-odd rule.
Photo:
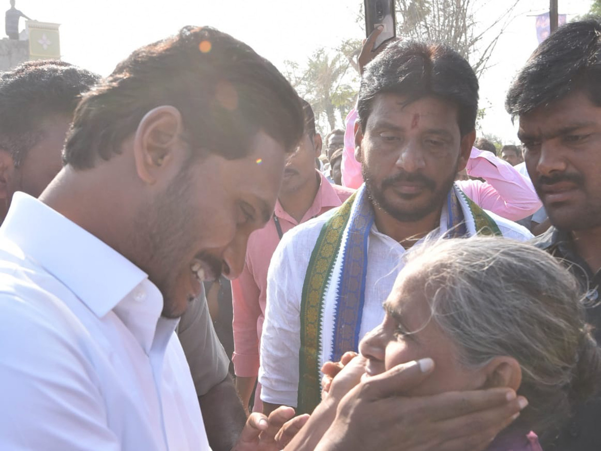
[[[377,184],[374,182],[367,165],[362,165],[361,173],[363,174],[365,187],[367,188],[367,192],[372,203],[374,204],[374,207],[380,207],[382,210],[388,213],[388,215],[392,216],[392,218],[397,219],[397,221],[416,222],[426,218],[426,216],[430,213],[442,209],[442,206],[447,199],[448,192],[455,181],[458,167],[459,162],[455,164],[454,170],[451,172],[450,176],[439,184],[439,189],[436,189],[435,180],[429,179],[429,177],[426,177],[421,173],[409,174],[406,171],[401,170],[394,176],[390,176],[382,180],[381,186],[377,186]],[[432,200],[429,204],[423,207],[416,207],[413,209],[401,209],[394,206],[393,204],[389,203],[388,200],[386,200],[384,191],[390,186],[394,185],[394,183],[398,182],[421,183],[425,189],[432,191]],[[411,197],[412,196],[410,195],[407,196],[407,200],[410,200]]]

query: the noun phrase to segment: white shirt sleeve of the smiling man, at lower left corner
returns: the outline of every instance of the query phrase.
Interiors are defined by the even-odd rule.
[[[0,296],[2,449],[121,450],[88,356],[37,312],[22,321],[19,304]]]

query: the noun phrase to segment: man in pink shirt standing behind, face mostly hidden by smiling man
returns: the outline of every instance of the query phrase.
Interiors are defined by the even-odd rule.
[[[234,372],[236,388],[246,409],[257,381],[259,342],[266,305],[267,269],[282,235],[297,224],[340,206],[353,190],[331,185],[315,168],[322,152],[322,137],[316,133],[313,109],[304,102],[305,135],[288,159],[273,218],[252,233],[246,250],[245,268],[233,280]],[[262,410],[257,385],[253,411]]]

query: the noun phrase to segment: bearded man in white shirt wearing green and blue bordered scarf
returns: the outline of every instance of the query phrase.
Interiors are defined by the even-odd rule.
[[[288,232],[270,263],[263,413],[278,405],[313,411],[320,368],[357,351],[380,324],[403,254],[428,233],[531,238],[453,183],[469,159],[477,111],[474,71],[444,45],[395,42],[365,67],[355,154],[366,183],[343,206]]]

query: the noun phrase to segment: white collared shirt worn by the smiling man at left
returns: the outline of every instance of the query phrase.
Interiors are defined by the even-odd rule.
[[[147,275],[23,193],[0,227],[0,448],[209,450]]]

